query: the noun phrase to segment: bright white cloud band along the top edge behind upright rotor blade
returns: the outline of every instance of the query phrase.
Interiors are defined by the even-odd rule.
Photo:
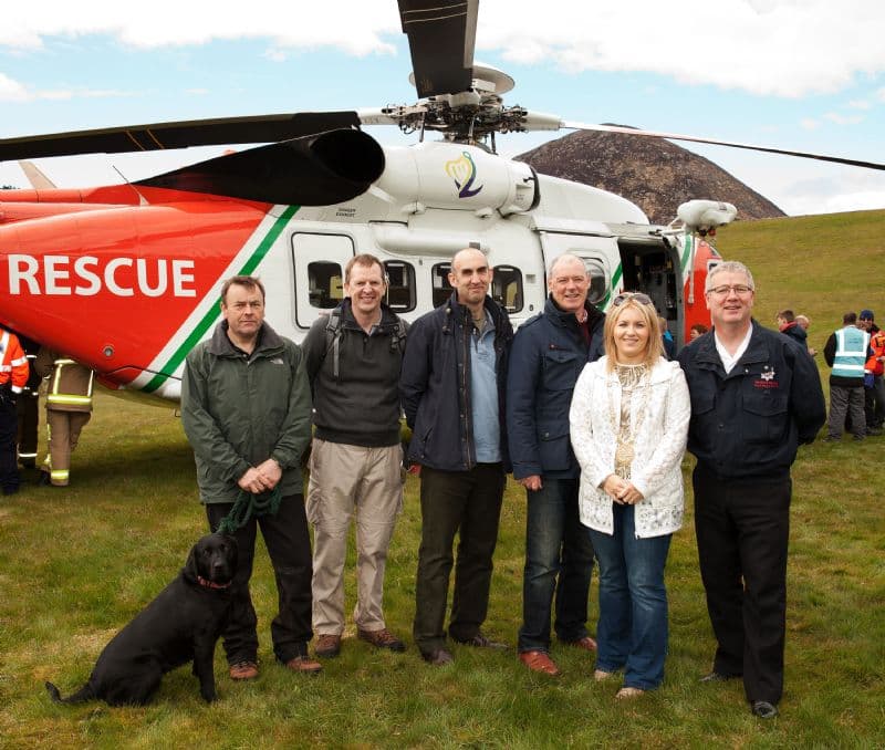
[[[34,13],[10,3],[0,48],[39,49],[51,35],[111,34],[137,49],[260,39],[282,60],[289,50],[319,46],[389,54],[402,33],[394,0],[290,3],[282,11],[271,0],[252,0],[233,8],[155,0],[145,13],[118,0],[44,0]],[[882,28],[885,3],[870,0],[480,0],[477,50],[523,64],[549,60],[571,72],[650,71],[798,97],[885,72]]]

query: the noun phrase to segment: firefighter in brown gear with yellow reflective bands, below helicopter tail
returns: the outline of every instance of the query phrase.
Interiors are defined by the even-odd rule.
[[[40,483],[66,487],[71,452],[92,417],[93,372],[45,346],[37,355],[35,366],[40,375],[50,375],[46,388],[49,452],[40,467]]]

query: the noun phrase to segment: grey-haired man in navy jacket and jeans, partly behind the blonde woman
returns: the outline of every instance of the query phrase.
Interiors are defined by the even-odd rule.
[[[525,488],[525,567],[519,658],[548,675],[550,615],[561,643],[594,650],[586,628],[593,544],[581,524],[581,467],[569,439],[569,407],[584,365],[603,350],[605,315],[587,302],[590,278],[576,256],[563,254],[548,270],[544,311],[520,326],[507,383],[507,433],[513,478]]]

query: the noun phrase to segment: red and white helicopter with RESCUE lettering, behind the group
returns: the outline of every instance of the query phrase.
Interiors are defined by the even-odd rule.
[[[496,133],[602,129],[885,168],[504,106],[513,81],[473,64],[478,1],[399,0],[414,105],[0,139],[0,160],[270,144],[129,185],[0,190],[0,323],[112,389],[175,400],[186,354],[218,320],[225,278],[260,275],[268,319],[300,340],[340,301],[355,253],[384,261],[389,304],[414,319],[447,298],[449,259],[472,246],[488,252],[492,294],[514,325],[543,309],[545,265],[568,251],[585,260],[594,303],[645,291],[681,342],[708,320],[704,283],[719,257],[705,238],[735,207],[694,200],[654,226],[624,198],[498,156]],[[383,149],[358,129],[382,124],[418,142]],[[430,132],[441,139],[425,139]]]

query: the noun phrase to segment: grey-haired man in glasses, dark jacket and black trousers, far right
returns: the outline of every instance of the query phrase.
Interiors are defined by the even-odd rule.
[[[718,643],[702,681],[742,676],[753,715],[770,719],[783,694],[790,467],[826,407],[814,361],[752,320],[754,295],[743,263],[711,269],[714,329],[678,358],[691,394],[695,531]]]

